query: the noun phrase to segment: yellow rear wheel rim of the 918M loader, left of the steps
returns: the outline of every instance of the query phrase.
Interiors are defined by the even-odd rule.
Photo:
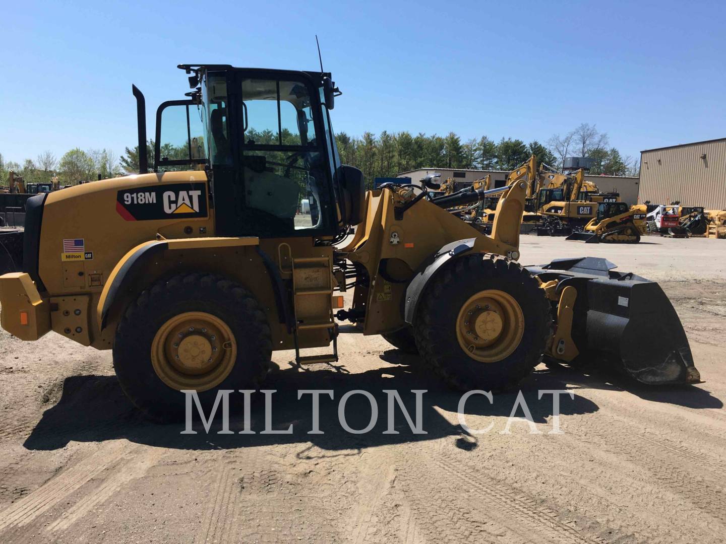
[[[159,379],[175,390],[210,390],[221,384],[237,360],[237,342],[220,318],[186,312],[164,323],[151,344]]]

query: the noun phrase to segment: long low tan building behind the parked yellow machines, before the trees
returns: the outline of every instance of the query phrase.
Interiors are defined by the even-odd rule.
[[[503,187],[509,176],[508,170],[452,170],[451,168],[419,168],[401,172],[399,178],[411,178],[418,181],[428,173],[440,173],[441,181],[452,178],[454,181],[470,184],[472,181],[484,178],[486,174],[492,174],[494,187]],[[585,176],[587,181],[596,184],[600,191],[615,191],[620,193],[620,199],[629,205],[638,202],[638,178],[630,176]]]

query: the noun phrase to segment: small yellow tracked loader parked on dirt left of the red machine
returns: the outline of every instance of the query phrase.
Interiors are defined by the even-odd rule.
[[[595,218],[582,231],[570,234],[566,240],[587,244],[637,244],[640,231],[635,224],[635,213],[625,202],[600,202]]]

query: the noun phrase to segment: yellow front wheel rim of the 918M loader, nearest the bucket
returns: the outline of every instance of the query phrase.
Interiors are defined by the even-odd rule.
[[[459,310],[456,336],[470,358],[495,363],[511,355],[524,334],[524,314],[514,297],[486,289],[469,298]]]

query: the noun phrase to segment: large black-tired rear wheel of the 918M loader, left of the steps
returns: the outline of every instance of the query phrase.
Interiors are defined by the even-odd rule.
[[[187,332],[193,330],[189,323],[200,323],[197,331]],[[179,353],[181,362],[168,353]],[[267,318],[252,294],[222,276],[201,273],[173,276],[145,289],[118,323],[113,345],[123,392],[157,421],[184,418],[180,390],[196,390],[208,417],[217,390],[256,389],[271,356]],[[213,366],[206,366],[207,360]]]

